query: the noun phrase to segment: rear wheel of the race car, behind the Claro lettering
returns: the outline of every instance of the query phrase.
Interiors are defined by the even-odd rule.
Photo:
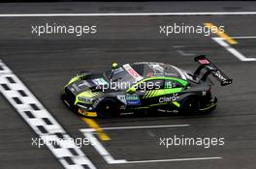
[[[200,109],[200,100],[197,97],[187,97],[181,103],[180,113],[195,114]]]

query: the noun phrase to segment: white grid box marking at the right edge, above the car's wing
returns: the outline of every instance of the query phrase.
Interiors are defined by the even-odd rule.
[[[232,39],[254,39],[256,37],[232,37]],[[228,50],[231,54],[237,57],[240,61],[248,62],[248,61],[256,61],[256,58],[247,58],[243,54],[240,53],[239,50],[232,47],[229,43],[225,42],[223,38],[212,38],[214,42],[217,42],[219,45],[223,46],[226,50]]]

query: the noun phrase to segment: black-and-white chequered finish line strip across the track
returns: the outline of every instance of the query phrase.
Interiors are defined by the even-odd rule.
[[[96,169],[72,137],[51,116],[16,74],[0,60],[0,93],[41,139],[66,169]]]

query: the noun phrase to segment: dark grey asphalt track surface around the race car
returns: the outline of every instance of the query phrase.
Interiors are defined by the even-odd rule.
[[[228,9],[237,11],[255,6],[253,2],[224,4],[223,9],[229,7]],[[154,5],[157,9],[157,3]],[[178,5],[169,5],[170,11],[176,11],[175,7]],[[137,6],[144,8],[143,4]],[[31,12],[35,11],[35,7],[39,11],[45,8],[44,5],[42,8],[35,5]],[[20,7],[17,4],[12,7],[6,6],[7,13],[8,8],[13,13],[14,9]],[[180,4],[180,9],[182,8],[184,6]],[[214,8],[219,10],[220,6]],[[59,9],[61,11],[61,8]],[[62,8],[63,11],[68,11],[67,9],[69,8]],[[0,58],[14,70],[73,137],[83,137],[80,128],[88,126],[63,105],[59,94],[67,80],[80,70],[106,70],[113,61],[119,64],[157,61],[194,70],[197,64],[193,62],[193,57],[207,54],[211,61],[234,79],[234,83],[227,87],[220,87],[217,82],[215,83],[218,106],[208,115],[95,120],[101,127],[189,125],[106,130],[112,140],[102,141],[102,144],[117,159],[138,161],[204,156],[221,156],[221,159],[108,164],[92,146],[82,147],[84,154],[97,168],[255,168],[256,63],[241,62],[212,41],[211,38],[215,35],[176,35],[166,38],[159,35],[158,26],[175,22],[193,25],[211,22],[215,25],[223,24],[225,32],[231,37],[255,37],[256,15],[2,17],[0,20]],[[82,38],[59,35],[42,38],[31,35],[31,24],[45,22],[91,23],[98,26],[99,32],[95,36]],[[234,45],[236,49],[246,56],[256,57],[256,39],[240,39],[238,42]],[[1,168],[62,168],[46,147],[38,149],[31,146],[31,137],[36,135],[3,97],[0,97],[0,112]],[[172,137],[175,134],[187,137],[224,137],[225,145],[209,149],[193,146],[166,149],[159,146],[159,137]]]

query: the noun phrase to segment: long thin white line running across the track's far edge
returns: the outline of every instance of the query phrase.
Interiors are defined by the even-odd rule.
[[[0,14],[0,17],[55,17],[55,16],[146,16],[146,15],[248,15],[256,12],[208,12],[208,13],[112,13],[112,14]]]

